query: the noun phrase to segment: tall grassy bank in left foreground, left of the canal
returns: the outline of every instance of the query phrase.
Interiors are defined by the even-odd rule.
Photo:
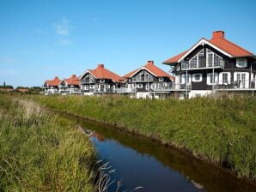
[[[0,94],[0,191],[94,191],[94,158],[76,127]]]

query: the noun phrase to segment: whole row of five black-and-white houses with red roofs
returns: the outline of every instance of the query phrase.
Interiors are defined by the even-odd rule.
[[[256,90],[256,57],[225,38],[223,31],[212,33],[211,39],[199,39],[190,49],[171,57],[163,64],[172,75],[148,61],[142,67],[120,76],[99,64],[82,75],[58,77],[46,81],[44,93],[120,93],[137,98],[180,98],[211,93],[254,92]]]

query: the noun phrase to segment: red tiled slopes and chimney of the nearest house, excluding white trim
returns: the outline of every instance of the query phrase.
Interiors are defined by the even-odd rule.
[[[243,49],[239,45],[235,45],[230,42],[228,39],[225,39],[225,33],[223,31],[216,31],[212,33],[212,38],[210,40],[205,39],[210,44],[215,45],[217,48],[229,53],[232,57],[248,57],[253,56],[253,53]],[[189,49],[190,50],[190,49]],[[187,50],[187,51],[189,51]],[[187,51],[180,53],[177,56],[171,57],[168,60],[164,61],[164,64],[168,63],[177,63],[181,57],[183,57]]]

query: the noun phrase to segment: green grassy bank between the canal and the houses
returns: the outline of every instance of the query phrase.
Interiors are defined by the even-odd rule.
[[[256,178],[256,98],[189,100],[36,96],[48,108],[113,123]]]

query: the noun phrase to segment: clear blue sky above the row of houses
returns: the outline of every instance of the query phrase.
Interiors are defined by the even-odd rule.
[[[254,0],[1,0],[0,84],[41,86],[104,63],[125,75],[212,31],[256,54]]]

